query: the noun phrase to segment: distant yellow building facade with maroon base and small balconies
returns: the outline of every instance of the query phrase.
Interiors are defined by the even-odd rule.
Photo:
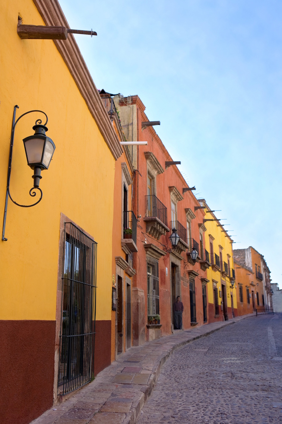
[[[220,220],[208,207],[205,199],[200,200],[204,208],[206,227],[205,246],[209,252],[210,266],[207,269],[208,322],[228,320],[238,315],[235,290],[235,271],[232,239]]]

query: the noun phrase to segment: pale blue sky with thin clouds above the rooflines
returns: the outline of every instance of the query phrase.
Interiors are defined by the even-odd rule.
[[[282,2],[59,0],[97,88],[139,95],[196,197],[282,288]]]

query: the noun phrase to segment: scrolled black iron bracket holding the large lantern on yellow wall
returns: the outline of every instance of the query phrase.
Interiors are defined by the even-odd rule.
[[[6,215],[7,215],[7,207],[8,207],[8,197],[11,199],[11,201],[17,205],[20,206],[22,208],[30,208],[31,206],[35,206],[37,205],[43,196],[42,190],[38,187],[39,185],[39,180],[42,178],[40,173],[41,173],[41,169],[48,169],[48,166],[43,166],[40,169],[39,165],[35,165],[34,167],[32,166],[32,164],[28,163],[28,165],[30,167],[32,167],[34,169],[34,175],[33,175],[33,179],[34,179],[34,187],[32,187],[29,191],[29,194],[31,197],[36,196],[36,192],[34,191],[35,189],[39,190],[41,193],[41,196],[39,198],[38,201],[36,201],[35,203],[31,204],[31,205],[20,205],[19,203],[17,203],[16,201],[14,201],[11,197],[11,193],[10,193],[10,178],[11,178],[11,167],[12,167],[12,156],[13,156],[13,147],[14,147],[14,134],[15,134],[15,128],[16,128],[16,124],[19,122],[19,120],[32,112],[40,112],[43,113],[46,116],[46,123],[44,124],[44,126],[42,126],[42,121],[41,119],[36,120],[36,125],[33,127],[35,129],[35,127],[44,127],[46,128],[46,124],[48,122],[48,117],[47,114],[45,112],[43,112],[42,110],[30,110],[28,112],[23,113],[20,117],[18,117],[18,119],[16,120],[16,109],[19,109],[19,106],[14,106],[14,114],[13,114],[13,123],[12,123],[12,131],[11,131],[11,143],[10,143],[10,154],[9,154],[9,163],[8,163],[8,175],[7,175],[7,188],[6,188],[6,200],[5,200],[5,210],[4,210],[4,219],[3,219],[3,232],[2,232],[2,240],[3,241],[7,241],[8,239],[5,238],[5,225],[6,225]],[[47,129],[47,128],[46,128]],[[42,132],[42,131],[41,131]],[[42,132],[42,134],[44,134],[45,131]],[[39,136],[40,137],[40,136]],[[42,136],[41,136],[42,137]],[[31,137],[27,137],[27,138],[31,138]],[[47,137],[46,137],[47,138]],[[49,139],[51,140],[51,139]],[[24,140],[25,141],[25,140]],[[52,141],[52,140],[51,140]],[[55,150],[55,145],[52,142],[53,146],[54,146],[54,150]],[[52,159],[52,156],[51,156]],[[51,161],[50,159],[50,161]]]

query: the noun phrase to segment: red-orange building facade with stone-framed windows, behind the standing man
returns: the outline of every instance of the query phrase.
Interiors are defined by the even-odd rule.
[[[145,115],[138,96],[114,98],[134,167],[132,211],[137,217],[132,279],[132,344],[174,332],[173,303],[181,296],[183,329],[208,322],[205,213]],[[172,248],[175,228],[180,237]],[[196,262],[190,256],[198,252]]]

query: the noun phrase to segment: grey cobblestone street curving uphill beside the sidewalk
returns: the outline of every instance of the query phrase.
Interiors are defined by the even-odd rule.
[[[137,423],[282,423],[282,315],[250,317],[175,351]]]

